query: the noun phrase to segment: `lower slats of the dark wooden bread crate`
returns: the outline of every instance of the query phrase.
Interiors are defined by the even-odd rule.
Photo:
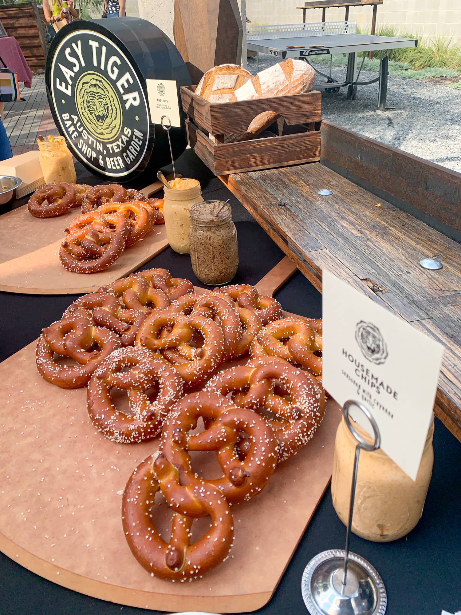
[[[317,130],[240,143],[213,143],[190,120],[186,124],[189,145],[216,175],[320,159],[320,132]]]

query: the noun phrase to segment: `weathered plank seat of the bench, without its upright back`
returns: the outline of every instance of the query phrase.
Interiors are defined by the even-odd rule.
[[[393,184],[405,168],[395,165]],[[444,171],[432,177],[427,163],[425,177]],[[435,413],[461,440],[459,244],[320,163],[221,179],[318,290],[326,268],[443,344]],[[321,197],[321,188],[334,194]],[[444,268],[422,269],[419,260],[433,255]]]

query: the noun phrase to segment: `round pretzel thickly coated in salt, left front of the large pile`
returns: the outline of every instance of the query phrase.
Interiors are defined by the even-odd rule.
[[[128,368],[128,370],[127,370]],[[150,389],[157,389],[155,400]],[[111,391],[127,391],[130,414],[117,410]],[[106,438],[125,444],[154,438],[173,403],[183,396],[175,368],[142,348],[121,348],[100,363],[90,379],[87,406],[93,425]]]

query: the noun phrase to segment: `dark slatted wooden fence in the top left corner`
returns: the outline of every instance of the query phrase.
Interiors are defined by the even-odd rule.
[[[0,20],[7,36],[18,41],[32,71],[45,68],[47,44],[42,19],[42,9],[35,2],[0,6]]]

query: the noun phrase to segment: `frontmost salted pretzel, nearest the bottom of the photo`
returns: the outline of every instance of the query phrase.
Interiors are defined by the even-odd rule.
[[[122,524],[128,546],[138,563],[160,579],[192,581],[227,559],[234,541],[234,520],[223,494],[197,480],[184,488],[200,510],[210,515],[211,527],[191,544],[194,518],[173,513],[167,541],[156,528],[159,483],[152,472],[154,455],[145,459],[128,479],[122,499]]]

